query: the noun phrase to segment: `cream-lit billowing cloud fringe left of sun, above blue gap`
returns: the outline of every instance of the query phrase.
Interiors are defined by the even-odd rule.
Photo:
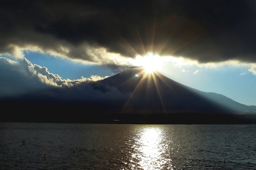
[[[67,41],[55,42],[56,39],[49,35],[30,35],[35,36],[38,40],[42,40],[42,46],[35,46],[32,44],[19,43],[9,44],[2,50],[1,54],[9,54],[18,59],[24,57],[23,51],[34,51],[39,53],[47,53],[49,55],[68,58],[76,62],[86,64],[115,64],[115,65],[129,65],[129,58],[124,57],[117,53],[108,52],[106,48],[94,47],[88,43],[74,46]],[[44,38],[48,37],[47,40]],[[44,39],[44,41],[43,41]],[[46,42],[47,41],[47,42]],[[48,42],[49,41],[49,42]],[[54,47],[47,44],[53,44]]]

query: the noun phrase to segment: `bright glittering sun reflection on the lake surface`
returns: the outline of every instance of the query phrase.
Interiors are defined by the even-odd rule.
[[[132,169],[172,169],[171,159],[168,159],[168,146],[170,140],[161,128],[141,128],[138,131],[137,144],[134,145],[132,158],[137,163],[137,168]]]

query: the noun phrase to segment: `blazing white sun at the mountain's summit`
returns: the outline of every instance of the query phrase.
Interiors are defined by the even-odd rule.
[[[157,54],[147,53],[144,56],[137,55],[132,64],[136,66],[143,66],[145,71],[151,73],[155,70],[161,69],[164,60]]]

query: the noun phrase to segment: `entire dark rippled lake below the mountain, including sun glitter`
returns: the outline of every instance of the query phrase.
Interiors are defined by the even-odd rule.
[[[0,123],[0,169],[255,170],[255,159],[256,125]]]

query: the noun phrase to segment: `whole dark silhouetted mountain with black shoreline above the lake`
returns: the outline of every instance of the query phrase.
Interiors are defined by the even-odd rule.
[[[96,82],[0,99],[0,106],[19,110],[3,114],[0,122],[256,123],[256,106],[201,92],[143,67],[132,67]]]

